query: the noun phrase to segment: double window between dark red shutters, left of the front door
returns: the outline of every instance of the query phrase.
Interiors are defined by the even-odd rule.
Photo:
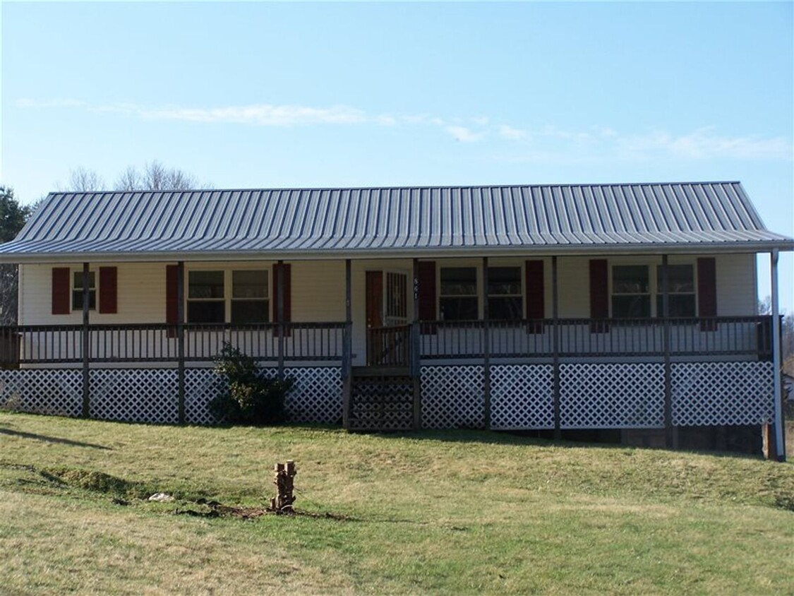
[[[231,284],[231,291],[226,285]],[[231,272],[187,273],[187,322],[224,323],[226,303],[232,323],[267,323],[270,312],[268,271],[239,269]]]

